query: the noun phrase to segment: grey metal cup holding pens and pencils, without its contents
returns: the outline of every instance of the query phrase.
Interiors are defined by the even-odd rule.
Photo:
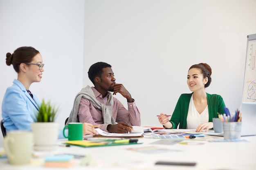
[[[236,140],[241,137],[242,122],[223,122],[224,140]]]

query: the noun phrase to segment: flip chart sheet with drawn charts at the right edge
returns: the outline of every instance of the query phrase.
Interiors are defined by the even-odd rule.
[[[247,35],[243,102],[256,102],[256,34]]]

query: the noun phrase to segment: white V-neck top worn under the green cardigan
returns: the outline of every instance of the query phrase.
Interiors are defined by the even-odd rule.
[[[209,121],[208,105],[206,106],[204,111],[201,114],[199,114],[195,108],[195,104],[193,101],[193,94],[192,94],[189,102],[188,116],[186,118],[186,128],[196,129],[200,124],[206,123],[208,121]]]

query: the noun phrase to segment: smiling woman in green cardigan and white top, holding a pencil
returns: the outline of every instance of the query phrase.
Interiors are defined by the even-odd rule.
[[[202,132],[213,128],[213,117],[224,113],[225,103],[220,95],[209,94],[205,88],[211,84],[211,67],[206,63],[195,64],[189,68],[187,84],[193,92],[182,94],[176,104],[173,115],[161,113],[159,122],[166,128],[196,129]]]

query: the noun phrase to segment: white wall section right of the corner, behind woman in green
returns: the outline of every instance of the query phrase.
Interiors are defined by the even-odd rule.
[[[255,7],[255,0],[87,0],[84,77],[94,62],[108,62],[135,99],[141,125],[160,126],[156,115],[172,114],[180,94],[191,93],[189,67],[206,62],[207,92],[222,95],[234,112],[242,101],[247,35],[256,33]]]

